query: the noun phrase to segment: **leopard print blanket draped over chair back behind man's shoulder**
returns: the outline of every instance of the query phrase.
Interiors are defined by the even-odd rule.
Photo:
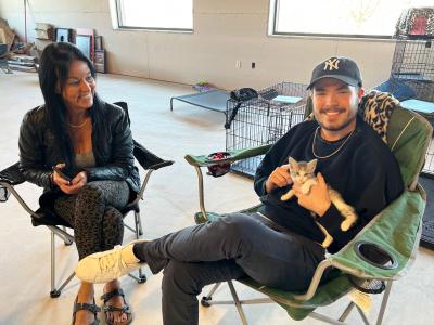
[[[399,101],[388,92],[371,90],[367,92],[359,103],[358,114],[372,127],[387,144],[387,126],[392,112],[399,105]],[[314,113],[306,118],[312,120]]]

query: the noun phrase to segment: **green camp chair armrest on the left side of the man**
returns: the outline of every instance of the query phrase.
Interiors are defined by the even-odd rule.
[[[208,166],[215,166],[215,165],[221,165],[221,164],[231,164],[237,160],[250,158],[250,157],[255,157],[259,155],[265,155],[269,148],[271,147],[271,144],[265,144],[256,147],[250,147],[250,148],[243,148],[243,150],[232,150],[229,151],[228,153],[230,154],[229,158],[226,159],[220,159],[220,160],[213,160],[208,158],[208,155],[200,155],[200,156],[193,156],[193,155],[186,155],[186,160],[196,167],[208,167]]]

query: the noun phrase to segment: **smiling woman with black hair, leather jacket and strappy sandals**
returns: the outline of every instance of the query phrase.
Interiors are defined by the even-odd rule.
[[[118,209],[140,186],[127,116],[99,99],[94,78],[91,62],[77,48],[48,46],[39,68],[44,105],[25,115],[18,143],[23,174],[44,188],[48,199],[41,202],[74,227],[79,259],[122,243]],[[129,324],[119,282],[106,283],[103,291],[107,324]],[[93,295],[93,285],[82,282],[73,324],[98,324]]]

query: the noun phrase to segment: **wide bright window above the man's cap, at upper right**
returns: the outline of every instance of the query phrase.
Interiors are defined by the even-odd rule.
[[[273,35],[391,38],[403,10],[433,0],[271,0]]]

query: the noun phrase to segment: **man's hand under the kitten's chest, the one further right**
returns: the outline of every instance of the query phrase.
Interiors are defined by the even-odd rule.
[[[299,184],[294,184],[292,188],[302,207],[315,212],[318,217],[322,217],[330,208],[331,202],[326,180],[320,172],[317,174],[317,181],[318,184],[311,186],[308,194],[302,193]]]

